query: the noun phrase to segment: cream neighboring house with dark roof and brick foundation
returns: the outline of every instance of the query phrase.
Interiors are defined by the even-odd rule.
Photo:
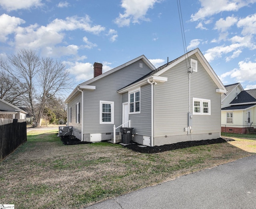
[[[232,85],[237,87],[228,95],[230,103],[221,109],[222,132],[252,132],[256,123],[256,89],[243,90],[240,84]]]

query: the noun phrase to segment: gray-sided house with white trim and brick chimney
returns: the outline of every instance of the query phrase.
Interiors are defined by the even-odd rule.
[[[223,93],[198,48],[158,69],[140,56],[78,85],[65,101],[68,126],[82,141],[110,140],[128,120],[132,140],[147,146],[215,139]]]

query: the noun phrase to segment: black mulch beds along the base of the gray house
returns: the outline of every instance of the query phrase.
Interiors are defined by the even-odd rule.
[[[65,138],[62,137],[61,140],[65,145],[91,143],[88,141],[80,141],[76,137],[65,137]],[[166,144],[166,145],[154,146],[154,147],[139,147],[138,145],[140,144],[131,143],[131,144],[125,145],[124,147],[140,153],[158,153],[158,152],[170,151],[174,149],[183,149],[187,147],[194,147],[194,146],[200,146],[200,145],[224,143],[227,141],[234,141],[234,139],[222,137],[218,139],[207,139],[207,140],[200,140],[200,141],[184,141],[184,142],[178,142],[175,144]]]

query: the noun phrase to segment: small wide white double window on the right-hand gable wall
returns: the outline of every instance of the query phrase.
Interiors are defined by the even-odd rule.
[[[210,115],[211,100],[193,98],[193,114],[194,115]]]

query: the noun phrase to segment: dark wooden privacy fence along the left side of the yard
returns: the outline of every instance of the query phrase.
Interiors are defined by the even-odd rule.
[[[25,119],[0,118],[0,161],[27,141]]]

